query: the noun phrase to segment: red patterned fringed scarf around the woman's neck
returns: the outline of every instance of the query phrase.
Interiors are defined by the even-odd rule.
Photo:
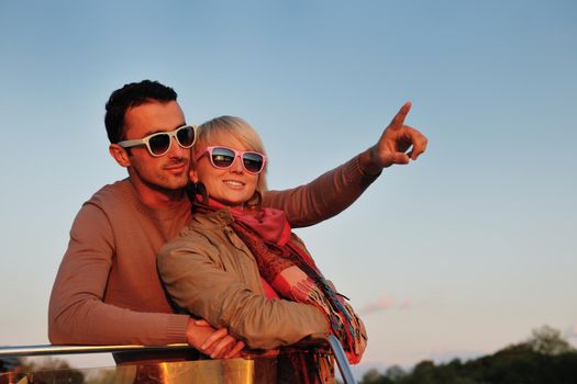
[[[197,212],[213,212],[224,206],[210,200],[209,205],[195,202],[193,207]],[[318,307],[348,360],[357,363],[367,339],[365,327],[296,239],[285,213],[273,208],[230,212],[234,217],[232,228],[253,252],[260,276],[281,297]]]

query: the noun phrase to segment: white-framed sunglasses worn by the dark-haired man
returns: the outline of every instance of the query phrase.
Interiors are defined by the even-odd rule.
[[[158,132],[143,138],[134,140],[119,142],[122,148],[131,148],[137,146],[146,146],[148,154],[154,157],[160,157],[168,153],[173,145],[173,137],[176,138],[178,145],[182,148],[191,148],[197,139],[197,127],[195,125],[182,125],[175,131]]]

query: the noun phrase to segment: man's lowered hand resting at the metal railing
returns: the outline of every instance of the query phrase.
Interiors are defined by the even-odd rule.
[[[206,320],[189,319],[187,341],[200,352],[212,359],[230,359],[240,357],[244,342],[229,335],[226,328],[214,329]]]

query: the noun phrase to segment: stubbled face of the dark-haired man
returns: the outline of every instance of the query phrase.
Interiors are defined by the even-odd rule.
[[[138,139],[157,132],[174,131],[185,124],[185,114],[176,101],[151,101],[131,108],[124,115],[124,137]],[[190,149],[171,138],[166,155],[152,156],[145,146],[129,149],[129,173],[135,184],[155,191],[176,191],[186,187]]]

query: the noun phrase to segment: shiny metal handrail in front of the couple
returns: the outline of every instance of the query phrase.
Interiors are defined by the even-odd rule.
[[[341,342],[334,335],[329,335],[324,340],[331,348],[341,376],[345,384],[356,383],[351,365],[346,359],[345,352]],[[314,346],[318,343],[307,342],[306,346]],[[320,345],[319,345],[320,346]],[[298,345],[297,345],[298,347]],[[51,355],[51,354],[81,354],[81,353],[108,353],[108,352],[127,352],[127,351],[175,351],[193,349],[187,343],[168,345],[168,346],[18,346],[18,347],[0,347],[1,357],[34,357],[34,355]]]

